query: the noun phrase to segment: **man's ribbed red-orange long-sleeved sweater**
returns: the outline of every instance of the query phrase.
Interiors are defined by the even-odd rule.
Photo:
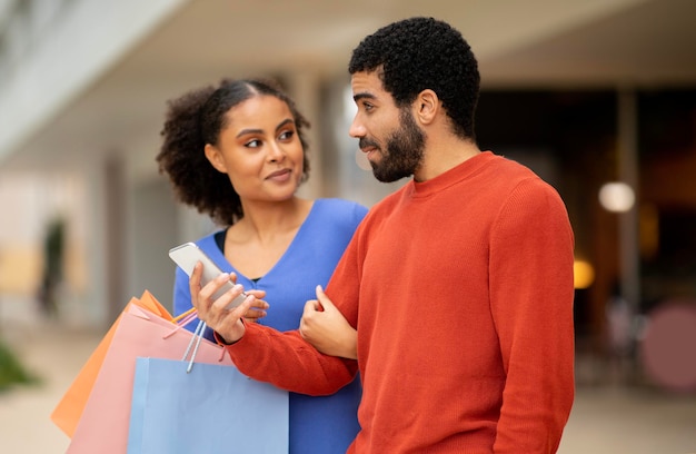
[[[489,151],[376,205],[327,294],[358,329],[349,453],[553,453],[574,398],[573,231],[558,194]],[[248,324],[239,369],[326,394],[355,362]]]

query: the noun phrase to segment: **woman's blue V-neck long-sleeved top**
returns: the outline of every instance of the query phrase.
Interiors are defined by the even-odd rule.
[[[307,219],[282,257],[256,282],[250,278],[258,276],[243,276],[225,258],[216,244],[215,234],[196,244],[220,269],[235,273],[237,283],[246,289],[266,290],[265,299],[270,307],[260,323],[281,332],[291,330],[299,328],[305,303],[316,299],[316,286],[326,287],[366,214],[366,207],[352,201],[315,200]],[[177,268],[175,315],[189,308],[189,278],[181,268]],[[193,330],[196,325],[192,322],[187,328]],[[212,340],[210,328],[207,329],[206,337]],[[290,393],[290,454],[344,454],[360,430],[357,417],[360,396],[358,377],[330,396],[311,397]],[[260,428],[262,433],[262,424]]]

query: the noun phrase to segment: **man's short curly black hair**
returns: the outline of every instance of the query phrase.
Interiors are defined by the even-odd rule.
[[[451,118],[455,134],[475,140],[474,114],[480,76],[461,33],[432,18],[410,18],[382,27],[352,51],[348,72],[378,71],[398,107],[431,89]]]

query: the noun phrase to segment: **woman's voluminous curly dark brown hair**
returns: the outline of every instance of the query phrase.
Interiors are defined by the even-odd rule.
[[[167,102],[167,117],[160,132],[163,142],[156,158],[159,171],[169,176],[178,200],[209,215],[219,225],[235,224],[243,217],[243,211],[229,177],[212,167],[203,150],[206,144],[218,144],[220,132],[228,126],[227,112],[256,96],[276,97],[290,108],[305,151],[301,181],[306,181],[309,159],[304,130],[310,125],[274,81],[223,79],[217,88],[203,87]]]

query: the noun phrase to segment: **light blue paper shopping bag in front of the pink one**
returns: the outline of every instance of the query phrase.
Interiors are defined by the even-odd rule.
[[[128,454],[287,454],[288,393],[236,367],[137,359]]]

